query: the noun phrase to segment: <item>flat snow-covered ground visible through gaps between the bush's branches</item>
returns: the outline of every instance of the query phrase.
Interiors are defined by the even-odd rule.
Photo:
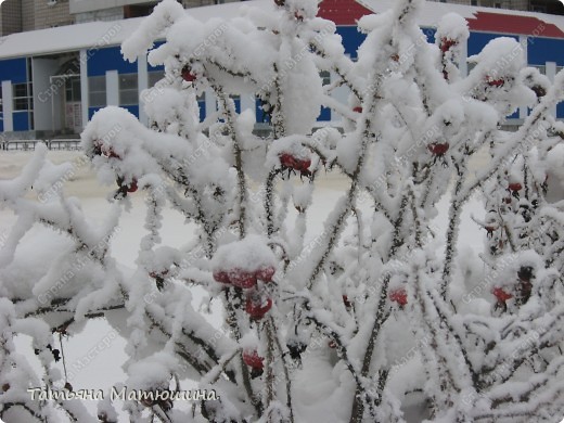
[[[31,154],[30,152],[0,153],[0,179],[11,179],[17,176],[23,165],[31,157]],[[63,163],[65,161],[82,163],[79,152],[49,152],[48,157],[53,163]],[[483,157],[483,159],[485,158]],[[480,166],[479,161],[480,158],[475,163],[476,168]],[[110,208],[106,195],[116,187],[100,185],[92,168],[88,164],[77,166],[76,169],[74,177],[65,184],[65,192],[67,195],[76,196],[80,200],[84,210],[87,211],[92,221],[101,220]],[[296,183],[299,183],[297,178]],[[311,238],[321,231],[322,222],[326,215],[347,188],[346,179],[341,177],[338,172],[322,175],[317,183],[317,194],[313,198],[313,205],[309,215],[310,221],[308,222],[310,228],[310,233],[308,234]],[[132,208],[123,216],[119,231],[112,244],[114,256],[121,266],[127,268],[133,268],[134,266],[139,241],[144,234],[142,227],[145,213],[143,193],[138,191],[130,195]],[[446,200],[443,198],[439,206],[439,215],[434,221],[435,228],[439,229],[440,236],[444,234],[448,211],[448,202]],[[361,203],[361,207],[369,206],[370,203],[368,201]],[[472,249],[474,254],[483,248],[484,233],[471,221],[471,213],[476,217],[483,217],[479,198],[473,197],[466,204],[462,217],[463,225],[459,242],[461,245],[465,245],[463,249],[464,255],[467,255],[466,248]],[[184,225],[182,217],[170,209],[165,210],[164,216],[162,229],[163,244],[181,246],[187,243],[191,236],[191,228]],[[292,221],[292,216],[289,220]],[[0,210],[0,240],[4,239],[14,221],[15,216],[10,211]],[[37,230],[40,229],[37,228]],[[37,242],[25,243],[24,239],[25,246],[20,249],[18,254],[24,257],[41,255],[46,253],[46,249],[49,251],[49,248],[56,247],[56,244],[49,244],[49,232],[46,233],[43,231],[43,234]],[[29,238],[29,234],[26,238]],[[465,258],[470,259],[470,257]],[[196,300],[201,299],[202,296]],[[220,324],[222,321],[221,316],[213,316],[213,319],[216,324]],[[69,380],[76,389],[93,387],[108,389],[114,383],[121,382],[126,377],[120,368],[126,358],[124,352],[126,342],[102,320],[89,321],[87,324],[88,328],[84,333],[88,333],[88,336],[79,334],[63,339],[67,372],[72,375]],[[20,338],[18,346],[22,348],[23,354],[33,356],[29,343],[26,339]],[[93,350],[95,354],[92,354]],[[80,364],[85,362],[88,362],[88,364]],[[62,362],[59,364],[62,371]],[[86,406],[94,412],[95,401],[88,401]]]

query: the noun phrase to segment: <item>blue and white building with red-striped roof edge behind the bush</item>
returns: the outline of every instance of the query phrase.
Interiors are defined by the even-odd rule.
[[[324,0],[319,14],[335,22],[346,53],[355,59],[364,39],[357,30],[357,20],[364,14],[383,12],[394,1]],[[264,0],[248,3],[257,8],[270,7],[270,2]],[[201,20],[233,16],[241,5],[233,2],[195,8],[190,13]],[[436,23],[448,12],[459,13],[469,23],[467,56],[482,51],[493,38],[504,36],[517,40],[529,66],[538,67],[549,79],[564,67],[563,16],[428,2],[420,26],[430,41],[434,42]],[[136,63],[126,62],[120,53],[120,43],[141,20],[88,22],[4,37],[0,42],[1,138],[44,139],[77,134],[92,115],[106,105],[125,107],[146,124],[141,92],[163,78],[164,69],[149,65],[146,56],[139,57]],[[467,72],[465,64],[461,67],[463,74]],[[331,75],[326,77],[330,79]],[[336,100],[343,102],[347,95],[346,90],[335,92]],[[255,99],[235,99],[235,105],[238,111],[254,110],[257,121],[264,120],[260,104]],[[202,118],[216,111],[211,92],[200,99],[200,106]],[[518,111],[508,124],[520,124],[526,114],[526,110]],[[564,118],[564,103],[553,114]],[[330,110],[320,111],[320,125],[338,126],[339,119]]]

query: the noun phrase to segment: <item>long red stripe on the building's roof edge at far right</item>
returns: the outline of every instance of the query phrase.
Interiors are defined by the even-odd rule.
[[[475,18],[466,20],[471,30],[521,34],[536,37],[564,37],[564,33],[554,24],[549,24],[533,16],[489,12],[477,12],[475,16]]]

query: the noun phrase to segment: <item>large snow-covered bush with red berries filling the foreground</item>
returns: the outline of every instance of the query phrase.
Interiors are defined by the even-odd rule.
[[[53,336],[106,317],[128,339],[125,386],[181,392],[192,380],[217,394],[190,411],[164,395],[131,399],[125,410],[136,422],[401,422],[413,412],[436,422],[555,421],[564,408],[564,128],[550,112],[564,74],[551,84],[524,68],[514,39],[498,38],[470,57],[464,77],[465,21],[445,16],[431,44],[416,25],[422,4],[397,0],[361,18],[356,62],[335,25],[316,17],[317,0],[205,23],[176,1],[158,4],[123,44],[126,59],[149,51],[165,66],[142,93],[150,127],[106,107],[82,133],[100,182],[118,185],[106,221],[90,222],[62,191],[26,196],[52,190],[67,170],[40,146],[20,177],[0,182],[2,206],[17,215],[0,253],[2,418],[57,421],[64,410],[93,421],[79,399],[34,401],[26,389],[72,392]],[[153,48],[163,31],[166,42]],[[334,80],[323,85],[321,72]],[[342,86],[348,104],[331,95]],[[201,121],[206,90],[218,111]],[[258,99],[268,137],[253,133],[255,114],[239,113],[236,95]],[[343,116],[343,132],[318,126],[322,106]],[[516,132],[502,130],[520,106],[529,116]],[[478,151],[489,161],[474,172]],[[325,171],[347,189],[316,233],[308,211]],[[111,244],[136,191],[146,196],[146,234],[137,269],[126,271]],[[485,206],[474,217],[484,268],[459,246],[474,195]],[[433,220],[445,198],[440,234]],[[182,248],[162,243],[165,207],[185,218]],[[37,223],[60,236],[50,259],[24,260],[18,244]],[[221,306],[221,328],[193,304],[197,290]],[[41,374],[15,351],[16,333],[31,336]],[[107,398],[98,419],[117,419]]]

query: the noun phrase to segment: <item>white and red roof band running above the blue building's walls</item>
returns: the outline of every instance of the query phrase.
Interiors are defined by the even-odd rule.
[[[362,15],[370,11],[383,12],[392,8],[394,2],[395,0],[324,0],[320,4],[320,15],[334,21],[337,25],[356,25]],[[207,21],[218,15],[236,15],[248,7],[271,8],[272,0],[193,8],[187,13]],[[420,16],[420,25],[435,27],[437,22],[449,12],[465,17],[472,30],[564,38],[564,16],[432,1],[425,4]],[[62,53],[95,46],[118,46],[133,33],[141,21],[142,17],[115,22],[90,22],[12,34],[0,38],[0,59]]]

